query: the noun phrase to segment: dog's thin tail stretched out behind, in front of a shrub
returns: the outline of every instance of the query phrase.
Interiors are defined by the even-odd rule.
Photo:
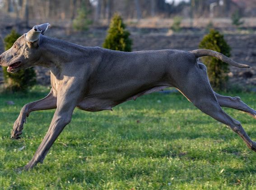
[[[236,67],[239,67],[239,68],[250,68],[251,67],[249,65],[245,65],[245,64],[235,62],[232,59],[224,56],[222,53],[215,52],[215,51],[210,50],[210,49],[196,49],[196,50],[189,51],[189,52],[193,53],[196,58],[203,57],[203,56],[213,56],[213,57],[216,57],[217,59],[219,59],[223,62],[226,62],[226,63],[228,63],[229,65],[232,65],[232,66],[236,66]]]

